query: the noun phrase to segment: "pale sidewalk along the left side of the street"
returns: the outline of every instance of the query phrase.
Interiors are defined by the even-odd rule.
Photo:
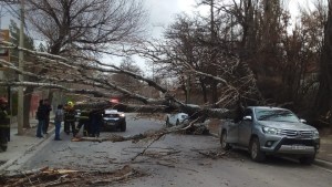
[[[54,125],[50,123],[48,134],[43,138],[35,137],[37,120],[30,120],[31,128],[25,128],[23,135],[18,135],[18,124],[11,124],[10,142],[7,152],[0,153],[0,174],[25,154],[34,150],[44,141],[54,136]]]

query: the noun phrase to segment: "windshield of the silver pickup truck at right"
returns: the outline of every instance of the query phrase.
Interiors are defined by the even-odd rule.
[[[287,110],[256,108],[255,114],[258,121],[299,122],[299,118],[292,112]]]

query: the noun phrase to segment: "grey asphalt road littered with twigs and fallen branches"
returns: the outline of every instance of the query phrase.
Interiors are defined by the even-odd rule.
[[[133,135],[158,129],[164,122],[136,118],[127,115],[127,132],[105,132]],[[137,156],[149,141],[136,144],[71,142],[45,142],[30,157],[21,160],[20,170],[41,167],[71,168],[80,170],[112,170],[123,165],[146,174],[114,186],[208,186],[208,187],[331,187],[332,172],[318,166],[304,166],[298,162],[271,157],[263,164],[250,160],[247,152],[220,149],[219,141],[203,135],[166,135]],[[137,157],[136,157],[137,156]],[[133,158],[135,158],[133,160]]]

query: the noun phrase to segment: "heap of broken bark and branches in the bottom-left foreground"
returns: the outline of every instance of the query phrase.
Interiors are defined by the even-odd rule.
[[[71,169],[50,169],[43,168],[29,173],[21,173],[11,176],[0,176],[0,186],[62,186],[62,187],[84,187],[107,185],[113,183],[126,181],[133,178],[145,176],[131,166],[126,165],[113,172],[81,172]]]

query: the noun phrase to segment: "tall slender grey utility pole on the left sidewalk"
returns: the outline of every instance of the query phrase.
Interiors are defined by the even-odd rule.
[[[20,22],[20,48],[24,48],[24,0],[21,0],[21,22]],[[23,51],[19,51],[19,70],[23,71]],[[23,82],[23,75],[19,74],[19,81]],[[18,135],[23,135],[24,118],[24,92],[23,86],[19,86],[18,95]]]

